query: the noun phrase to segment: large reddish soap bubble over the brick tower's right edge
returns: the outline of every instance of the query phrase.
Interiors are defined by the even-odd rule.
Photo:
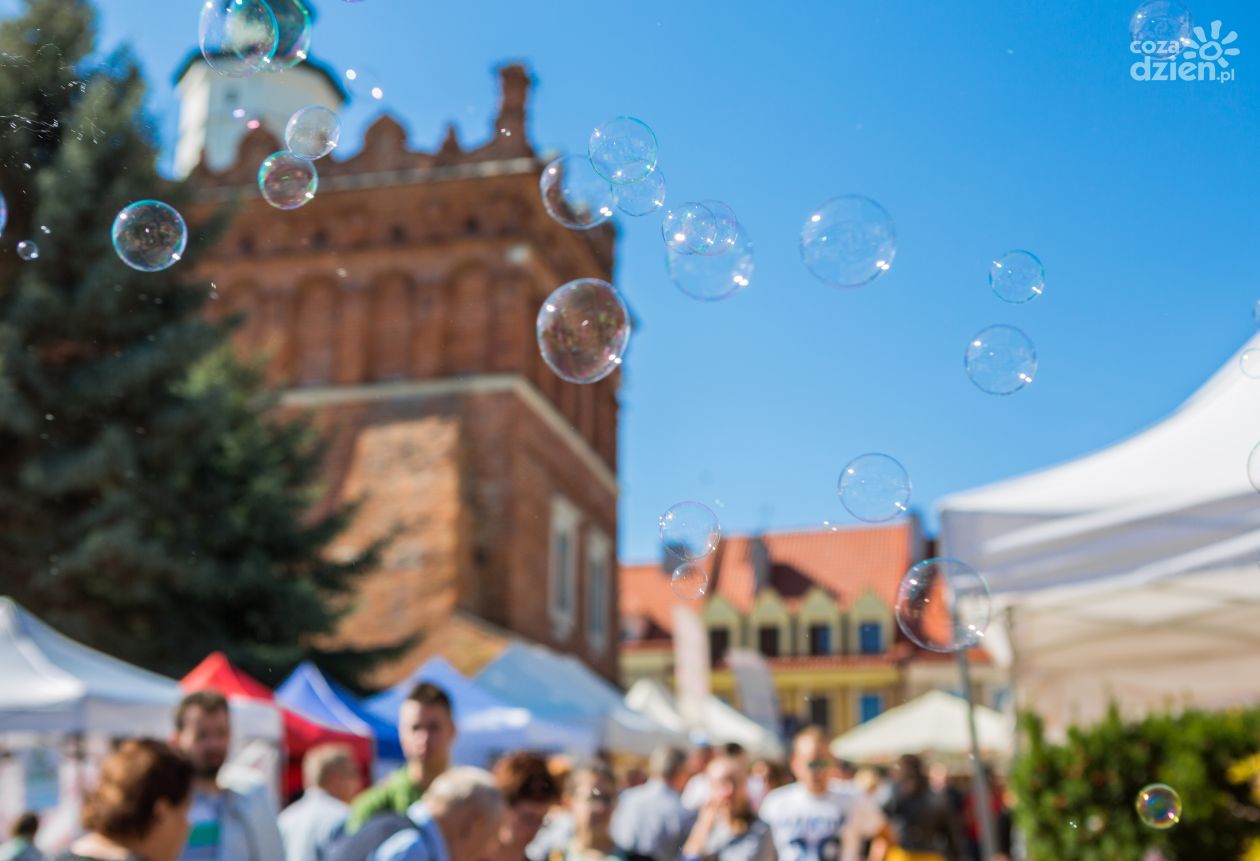
[[[578,279],[547,298],[536,332],[543,361],[557,377],[593,383],[621,367],[630,311],[607,281]]]

